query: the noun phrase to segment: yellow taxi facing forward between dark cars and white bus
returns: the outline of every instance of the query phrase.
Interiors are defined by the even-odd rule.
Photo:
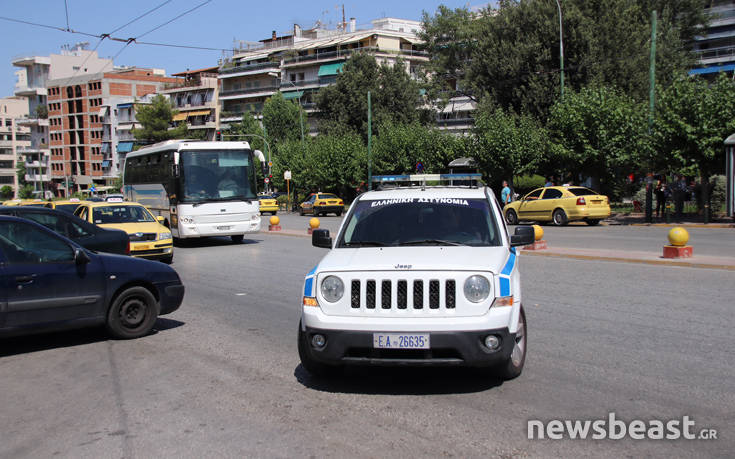
[[[128,233],[130,255],[171,263],[174,241],[171,230],[161,224],[163,217],[154,217],[137,202],[83,202],[74,215],[102,228],[115,228]]]

